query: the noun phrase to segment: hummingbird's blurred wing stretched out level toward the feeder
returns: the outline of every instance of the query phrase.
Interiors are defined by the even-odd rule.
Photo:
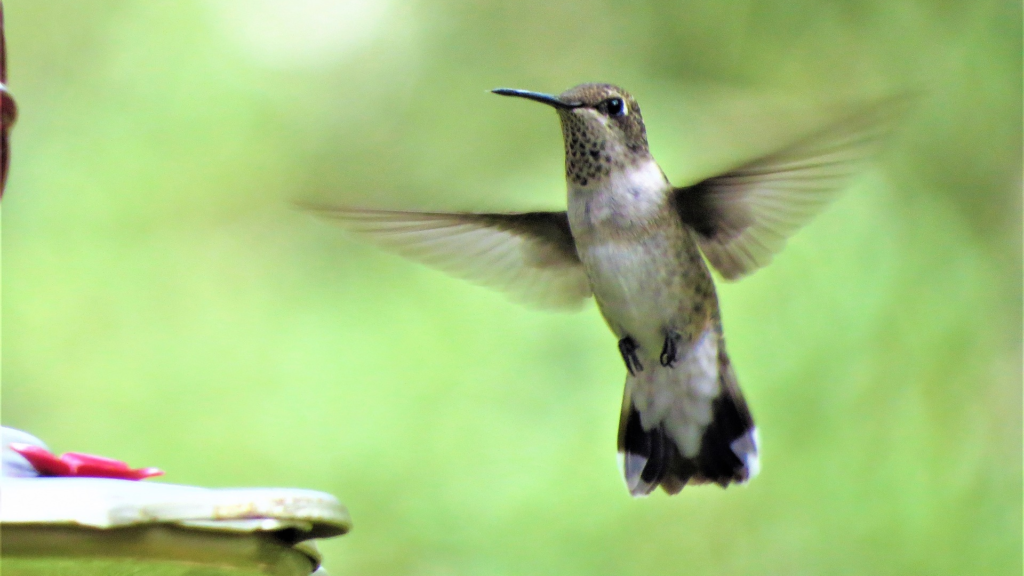
[[[538,307],[591,295],[565,212],[471,214],[308,207],[392,251]]]

